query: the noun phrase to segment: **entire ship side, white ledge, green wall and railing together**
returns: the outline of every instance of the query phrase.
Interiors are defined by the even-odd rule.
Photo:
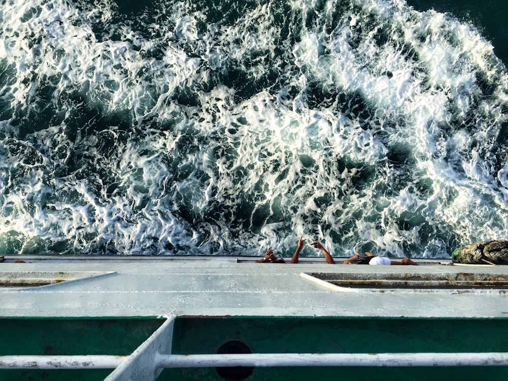
[[[508,375],[508,266],[257,259],[6,256],[0,379]]]

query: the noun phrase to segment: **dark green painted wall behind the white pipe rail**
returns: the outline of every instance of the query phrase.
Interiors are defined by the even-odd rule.
[[[0,355],[130,355],[162,319],[1,319]],[[179,317],[173,354],[508,352],[505,319]],[[0,380],[102,380],[111,369],[0,370]],[[235,373],[233,373],[235,374]],[[495,377],[495,378],[491,378]],[[256,367],[248,380],[508,379],[508,367]],[[221,380],[215,368],[165,369],[158,380]],[[236,378],[239,379],[239,378]]]

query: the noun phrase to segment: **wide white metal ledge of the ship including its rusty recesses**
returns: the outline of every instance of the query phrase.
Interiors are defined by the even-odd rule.
[[[508,266],[254,261],[5,257],[0,316],[508,317]]]

